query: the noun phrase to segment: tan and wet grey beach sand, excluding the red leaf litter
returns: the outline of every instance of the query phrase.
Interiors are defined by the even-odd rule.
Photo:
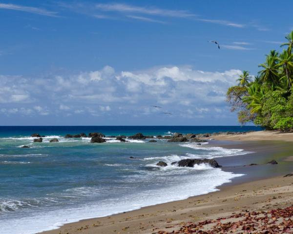
[[[42,234],[156,234],[177,231],[188,222],[229,217],[244,211],[288,207],[293,204],[293,176],[283,176],[293,172],[293,145],[284,142],[284,138],[293,141],[293,134],[279,134],[278,141],[272,141],[276,140],[274,135],[278,134],[257,132],[212,137],[219,141],[214,141],[211,145],[254,152],[216,158],[223,165],[223,170],[246,174],[234,178],[232,183],[220,186],[217,192],[122,214],[81,220]],[[239,140],[242,142],[238,142]],[[272,159],[277,160],[278,164],[266,164]],[[259,165],[247,166],[250,163]],[[209,228],[211,227],[206,227],[207,230]]]

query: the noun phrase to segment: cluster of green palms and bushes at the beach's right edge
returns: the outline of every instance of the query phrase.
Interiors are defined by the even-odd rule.
[[[260,71],[252,78],[248,71],[237,79],[238,85],[227,91],[231,111],[241,124],[253,122],[266,129],[293,129],[293,31],[281,44],[282,52],[266,55]]]

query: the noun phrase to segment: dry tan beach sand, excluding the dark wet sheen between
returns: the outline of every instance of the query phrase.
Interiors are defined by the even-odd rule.
[[[242,135],[212,136],[212,138],[229,141],[293,141],[293,133],[260,131]],[[282,159],[282,161],[288,163],[292,163],[292,160],[293,158],[290,155]],[[258,165],[251,166],[251,170],[258,170],[257,167]],[[43,234],[167,234],[188,233],[186,230],[191,230],[191,227],[196,227],[194,229],[196,232],[194,231],[194,233],[200,230],[207,231],[207,233],[221,233],[222,231],[215,232],[213,230],[220,230],[216,228],[225,227],[225,223],[227,222],[234,225],[227,230],[233,230],[234,233],[243,233],[241,230],[246,230],[247,225],[244,226],[242,216],[244,218],[251,217],[251,213],[255,212],[253,213],[254,216],[252,219],[257,220],[256,217],[263,217],[266,214],[265,212],[271,214],[272,209],[283,209],[292,205],[293,177],[283,177],[285,174],[284,172],[284,175],[281,176],[266,176],[266,179],[257,179],[245,183],[228,183],[220,186],[220,190],[217,192],[193,196],[185,200],[148,206],[123,214],[81,220],[79,222],[65,224],[56,230],[43,232]],[[186,189],[188,190],[188,188]],[[291,208],[288,209],[290,210]],[[283,212],[283,210],[280,210],[280,212]],[[235,214],[238,215],[235,216]],[[288,214],[286,217],[288,217]],[[277,220],[281,227],[283,222],[287,222],[288,219],[284,217],[276,218],[269,215],[268,220],[270,222],[272,221],[272,225]],[[204,222],[199,223],[201,221]],[[261,227],[259,227],[259,230],[261,230]],[[254,232],[257,233],[259,230],[255,229]]]

